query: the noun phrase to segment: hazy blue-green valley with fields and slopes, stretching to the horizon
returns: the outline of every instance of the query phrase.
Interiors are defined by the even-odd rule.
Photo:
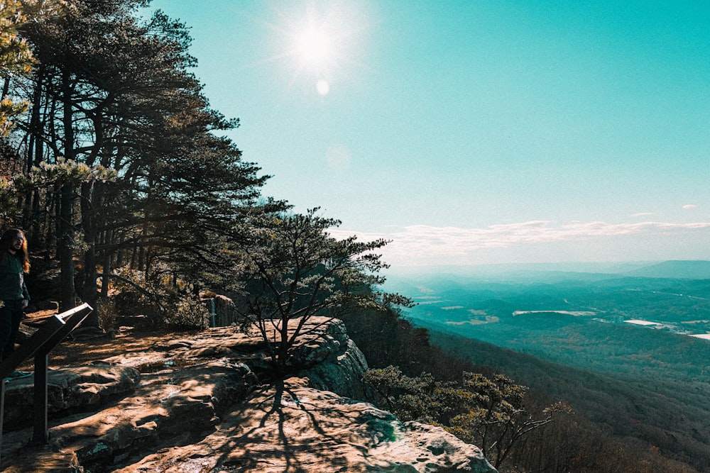
[[[652,274],[410,273],[388,289],[415,299],[405,316],[432,343],[707,471],[710,279]]]

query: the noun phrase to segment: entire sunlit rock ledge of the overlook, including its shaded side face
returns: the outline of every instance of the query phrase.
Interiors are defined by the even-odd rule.
[[[8,382],[0,471],[496,471],[444,430],[358,401],[367,365],[344,325],[314,318],[306,329],[293,376],[268,383],[263,341],[234,328],[56,367],[48,445],[23,427],[33,378]]]

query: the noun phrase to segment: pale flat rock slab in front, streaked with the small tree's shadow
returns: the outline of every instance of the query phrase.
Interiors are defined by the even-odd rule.
[[[254,393],[199,443],[148,455],[119,473],[493,472],[442,429],[401,423],[291,378]]]

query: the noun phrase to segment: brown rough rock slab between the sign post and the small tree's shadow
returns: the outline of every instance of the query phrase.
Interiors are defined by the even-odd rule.
[[[49,448],[41,449],[44,455],[21,446],[22,439],[30,436],[28,430],[6,435],[4,444],[17,448],[3,452],[4,464],[10,464],[3,472],[55,471],[46,469],[45,462],[62,463],[74,457],[92,472],[113,471],[114,464],[126,457],[142,457],[203,438],[219,423],[224,408],[244,399],[255,384],[249,367],[228,360],[143,374],[131,396],[96,413],[62,419],[50,428]]]

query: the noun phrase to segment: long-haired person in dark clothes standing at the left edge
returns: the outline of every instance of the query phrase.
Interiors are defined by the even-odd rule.
[[[22,230],[10,228],[0,237],[0,361],[15,350],[15,338],[30,303],[25,274],[30,271],[27,240]],[[29,373],[13,372],[11,377]]]

